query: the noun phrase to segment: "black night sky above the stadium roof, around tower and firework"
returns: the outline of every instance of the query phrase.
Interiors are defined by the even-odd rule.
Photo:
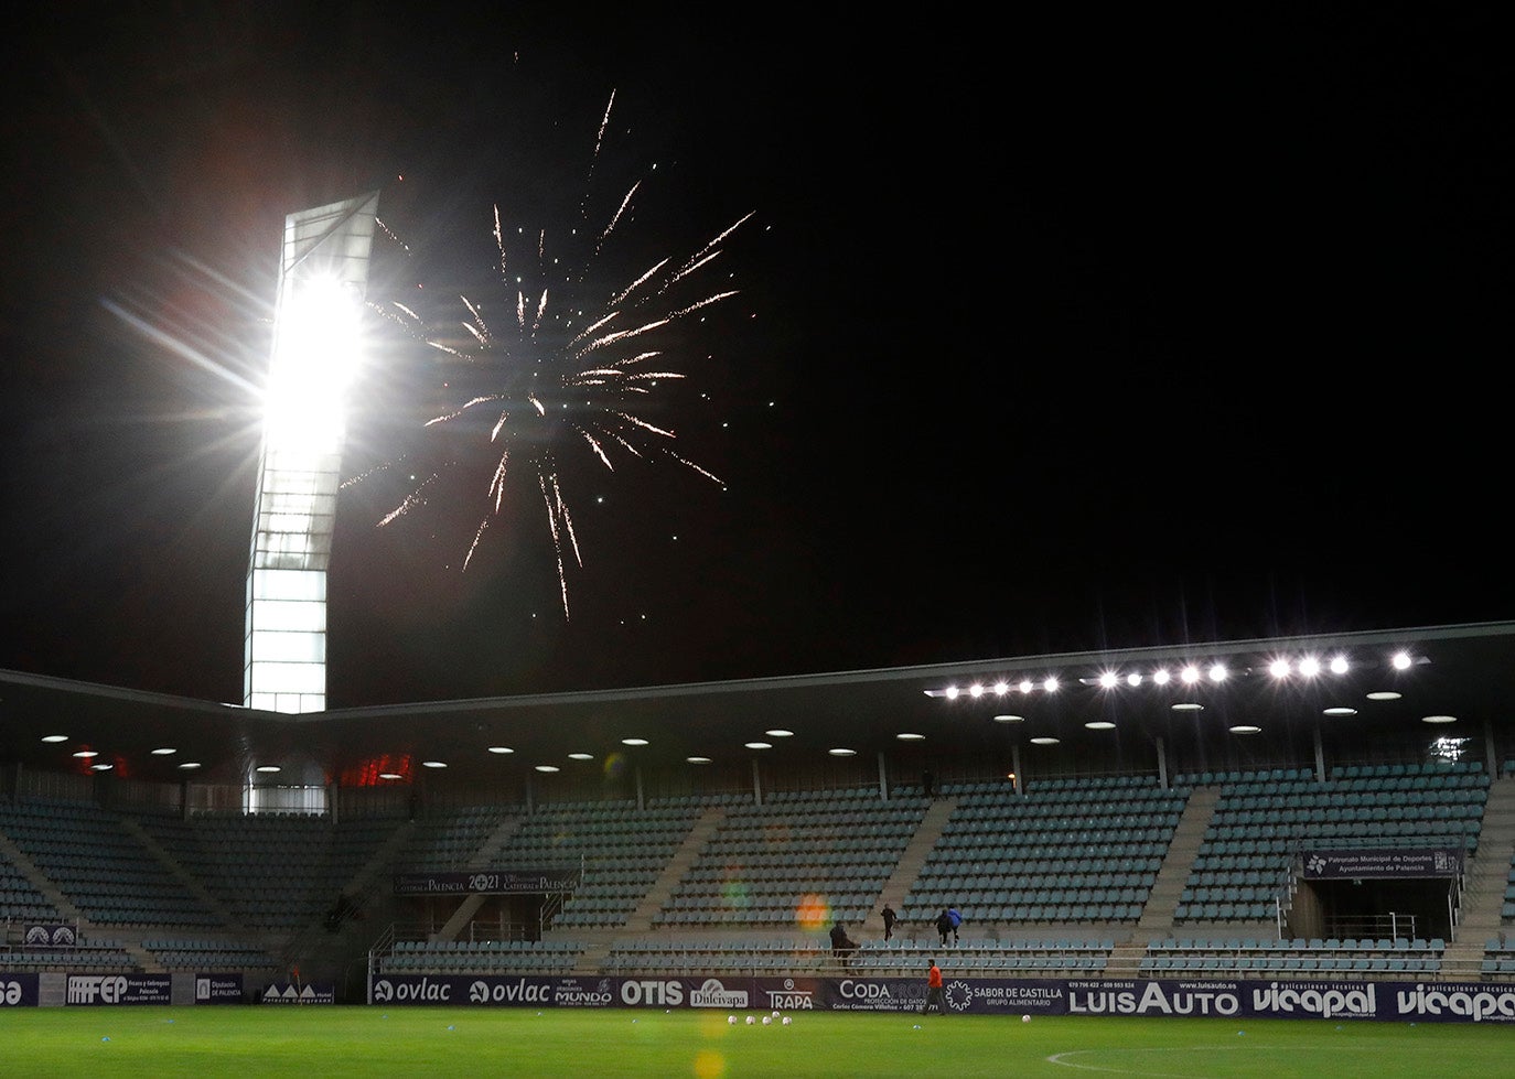
[[[486,292],[612,92],[632,262],[753,215],[659,406],[724,489],[585,454],[567,620],[538,504],[462,572],[482,492],[344,490],[333,707],[1515,616],[1492,9],[24,8],[0,667],[239,701],[283,216],[377,189],[370,298]]]

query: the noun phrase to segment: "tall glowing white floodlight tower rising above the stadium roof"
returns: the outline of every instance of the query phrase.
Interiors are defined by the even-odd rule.
[[[326,571],[379,192],[285,218],[242,639],[242,702],[326,708]]]

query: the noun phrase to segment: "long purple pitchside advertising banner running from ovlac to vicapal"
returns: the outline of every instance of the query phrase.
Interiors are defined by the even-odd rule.
[[[1009,981],[948,978],[948,1012],[970,1015],[1183,1015],[1515,1023],[1515,985],[1479,982]],[[727,1012],[920,1012],[926,979],[559,978],[385,975],[382,1005],[527,1008],[715,1008]]]

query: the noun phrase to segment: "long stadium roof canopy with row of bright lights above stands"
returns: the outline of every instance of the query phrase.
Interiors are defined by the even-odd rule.
[[[1409,657],[1404,669],[1392,666],[1398,652]],[[1323,664],[1342,657],[1347,667],[1306,676],[1298,667],[1306,657]],[[1291,663],[1283,678],[1270,672],[1276,658]],[[1179,678],[1189,663],[1200,670],[1195,684]],[[1223,681],[1212,678],[1214,664],[1224,664]],[[1159,669],[1173,675],[1167,684],[1154,681]],[[1115,675],[1114,686],[1098,683],[1106,672]],[[1141,676],[1139,684],[1132,684],[1132,675]],[[1054,690],[1047,687],[1050,676],[1057,678]],[[1503,737],[1512,699],[1515,622],[300,716],[0,672],[0,761],[79,773],[109,764],[102,769],[106,775],[164,782],[239,784],[255,769],[270,767],[280,770],[268,773],[267,782],[279,784],[385,782],[377,776],[388,772],[427,784],[509,790],[536,766],[573,778],[574,769],[603,769],[614,754],[651,769],[748,770],[759,757],[774,767],[835,764],[876,775],[879,754],[885,754],[892,767],[917,775],[933,761],[965,757],[982,760],[985,769],[1020,760],[1027,772],[1045,763],[1048,772],[1065,773],[1104,770],[1100,763],[1114,760],[1121,769],[1142,761],[1156,769],[1156,739],[1185,748],[1191,760],[1198,754],[1224,767],[1229,754],[1298,760],[1321,743],[1338,761],[1347,755],[1371,760],[1380,742],[1430,745],[1445,735],[1474,740],[1471,755],[1483,758],[1515,755]],[[1441,720],[1427,722],[1435,717]],[[645,745],[627,745],[627,739]],[[751,749],[747,743],[753,742],[770,748]],[[77,757],[82,752],[97,757]],[[689,763],[691,757],[709,758],[709,764]]]

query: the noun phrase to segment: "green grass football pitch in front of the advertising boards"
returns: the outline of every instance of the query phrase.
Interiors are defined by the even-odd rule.
[[[748,1014],[759,1021],[748,1026]],[[527,1008],[0,1011],[0,1076],[1515,1074],[1515,1028],[1330,1020],[923,1017]]]

